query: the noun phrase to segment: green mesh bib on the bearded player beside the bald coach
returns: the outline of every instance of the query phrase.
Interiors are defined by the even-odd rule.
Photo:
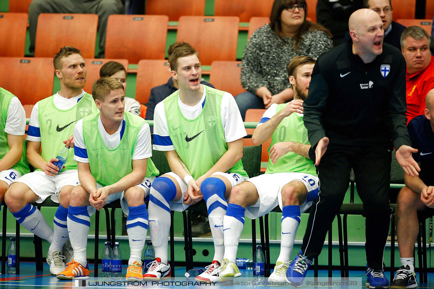
[[[287,105],[287,103],[278,104],[276,114]],[[270,149],[275,143],[288,141],[310,145],[307,138],[307,129],[303,123],[303,116],[292,113],[279,123],[271,136],[271,145],[268,148],[268,155],[270,156]],[[273,165],[271,158],[268,159],[268,166],[265,173],[272,174],[276,172],[304,172],[306,174],[316,175],[316,168],[311,159],[289,152],[277,159],[275,165]]]

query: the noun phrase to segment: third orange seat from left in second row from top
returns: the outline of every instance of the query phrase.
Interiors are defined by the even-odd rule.
[[[129,63],[164,59],[168,21],[165,15],[110,15],[105,57],[128,59]]]

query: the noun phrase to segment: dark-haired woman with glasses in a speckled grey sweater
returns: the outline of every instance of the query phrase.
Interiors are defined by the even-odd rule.
[[[293,99],[286,67],[296,55],[317,58],[333,47],[323,26],[306,20],[306,0],[275,0],[270,23],[256,29],[247,42],[241,84],[235,97],[243,120],[249,108],[269,108]]]

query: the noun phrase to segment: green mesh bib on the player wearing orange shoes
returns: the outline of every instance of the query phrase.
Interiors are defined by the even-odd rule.
[[[125,130],[116,149],[107,149],[98,129],[99,113],[83,118],[83,139],[89,158],[90,171],[101,185],[112,185],[133,171],[132,156],[137,143],[138,133],[146,122],[143,118],[125,114]],[[151,158],[148,158],[146,177],[158,175]]]

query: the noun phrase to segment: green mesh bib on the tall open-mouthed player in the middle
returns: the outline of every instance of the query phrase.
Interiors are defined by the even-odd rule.
[[[178,156],[196,180],[211,169],[227,152],[224,128],[221,120],[221,100],[224,91],[204,85],[205,105],[195,119],[184,117],[178,105],[178,91],[164,99],[164,111],[169,136]],[[227,172],[247,177],[239,160]]]

